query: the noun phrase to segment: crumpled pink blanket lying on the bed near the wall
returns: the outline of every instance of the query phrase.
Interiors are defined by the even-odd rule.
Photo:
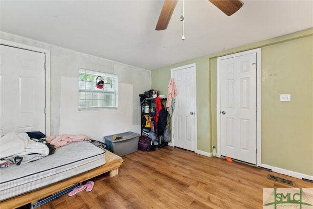
[[[91,141],[87,136],[83,134],[80,134],[80,135],[63,134],[63,135],[58,135],[58,136],[47,137],[46,140],[50,144],[53,144],[55,148],[67,145],[75,141],[83,141],[83,140]]]

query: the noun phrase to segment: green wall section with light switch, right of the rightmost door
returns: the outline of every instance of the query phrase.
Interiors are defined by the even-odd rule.
[[[263,47],[261,85],[262,163],[313,175],[313,37]]]

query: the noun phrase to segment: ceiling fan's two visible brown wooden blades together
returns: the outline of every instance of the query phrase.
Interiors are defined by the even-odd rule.
[[[165,0],[160,16],[156,23],[156,30],[165,30],[172,17],[178,0]],[[237,12],[244,3],[241,0],[209,0],[227,16]]]

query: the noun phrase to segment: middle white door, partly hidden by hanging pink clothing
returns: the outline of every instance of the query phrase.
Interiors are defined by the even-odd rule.
[[[171,70],[177,97],[172,116],[174,146],[195,151],[196,140],[196,65]]]

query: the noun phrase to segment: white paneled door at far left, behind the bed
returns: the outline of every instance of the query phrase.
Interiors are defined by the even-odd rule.
[[[0,134],[45,133],[45,54],[0,45]]]

